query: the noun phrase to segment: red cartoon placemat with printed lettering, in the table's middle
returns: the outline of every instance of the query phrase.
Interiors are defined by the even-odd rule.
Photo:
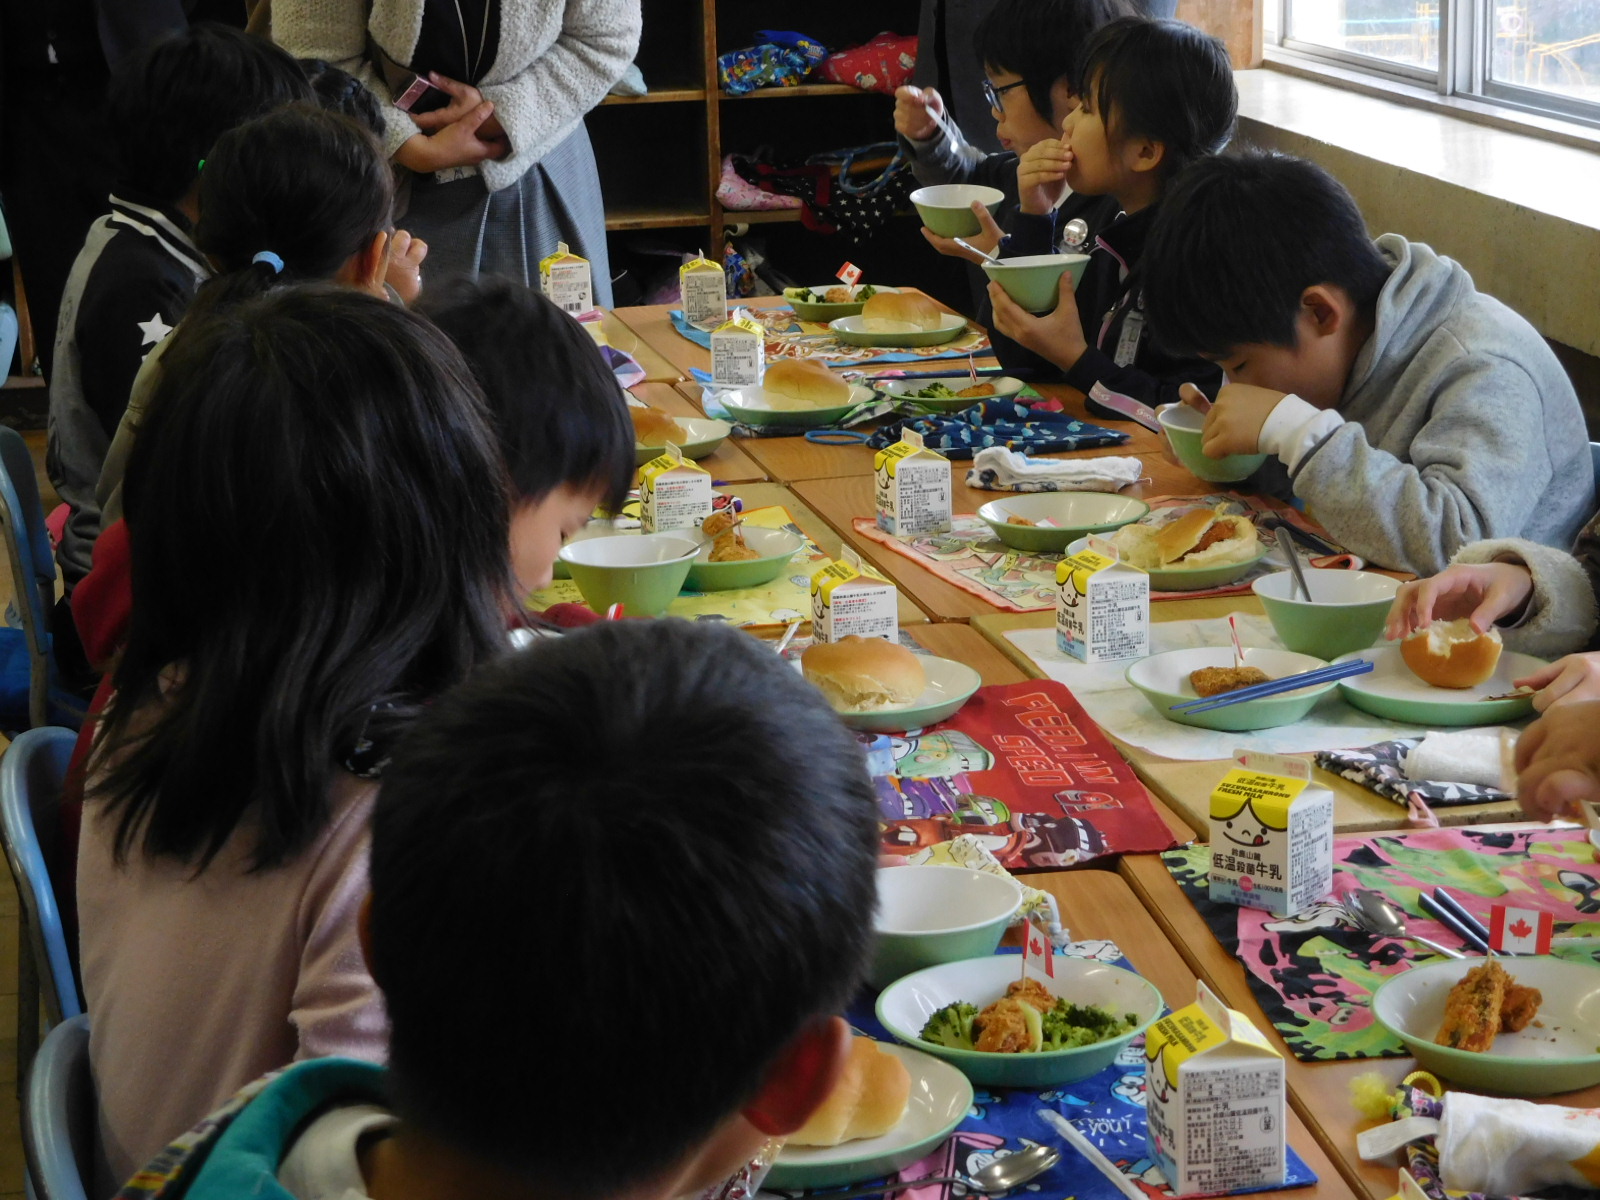
[[[947,843],[971,834],[1006,870],[1059,870],[1173,845],[1133,768],[1053,680],[979,688],[947,722],[861,739],[885,854],[949,862]]]

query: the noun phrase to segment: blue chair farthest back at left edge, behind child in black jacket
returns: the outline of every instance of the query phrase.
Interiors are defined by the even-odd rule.
[[[0,426],[0,533],[11,562],[11,587],[22,618],[21,642],[27,654],[27,712],[21,725],[64,725],[78,728],[88,714],[80,696],[56,682],[56,659],[50,651],[50,611],[56,602],[56,555],[45,528],[45,507],[38,501],[38,477],[27,442],[10,426]],[[0,635],[6,630],[0,629]],[[5,654],[0,637],[0,661]],[[0,667],[0,678],[8,675]]]

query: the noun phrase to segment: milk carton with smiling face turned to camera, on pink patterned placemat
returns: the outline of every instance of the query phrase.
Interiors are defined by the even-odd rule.
[[[1333,890],[1333,792],[1302,758],[1238,763],[1211,790],[1211,899],[1293,917]]]

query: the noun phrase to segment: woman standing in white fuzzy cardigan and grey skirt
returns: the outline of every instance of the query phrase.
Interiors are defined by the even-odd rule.
[[[384,149],[410,173],[405,226],[427,242],[430,272],[536,283],[539,259],[566,242],[602,306],[605,203],[582,120],[622,77],[640,26],[640,0],[272,3],[278,45],[344,67],[382,101]]]

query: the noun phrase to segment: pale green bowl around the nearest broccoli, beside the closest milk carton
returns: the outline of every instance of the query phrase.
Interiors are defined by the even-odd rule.
[[[1006,984],[1016,982],[1018,966],[1016,955],[992,954],[987,958],[966,958],[907,974],[878,995],[878,1021],[906,1045],[960,1067],[973,1083],[1050,1088],[1077,1083],[1104,1070],[1117,1061],[1125,1045],[1162,1014],[1162,994],[1133,971],[1094,958],[1056,958],[1056,978],[1048,984],[1051,992],[1074,1003],[1110,1005],[1117,1013],[1133,1013],[1134,1027],[1091,1046],[1045,1050],[1037,1054],[987,1054],[922,1040],[922,1027],[928,1018],[946,1005],[965,1000],[984,1008],[1005,995]]]

